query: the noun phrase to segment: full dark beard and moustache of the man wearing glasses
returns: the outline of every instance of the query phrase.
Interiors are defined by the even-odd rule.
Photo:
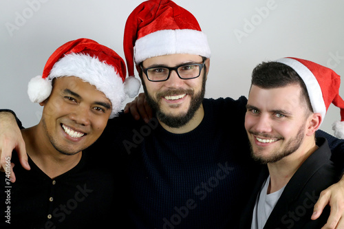
[[[193,89],[169,89],[157,94],[157,98],[172,96],[175,94],[188,94],[189,96],[191,96],[191,102],[188,111],[186,111],[186,113],[181,113],[179,116],[173,116],[169,113],[164,113],[160,109],[159,102],[156,101],[153,96],[149,95],[147,87],[144,84],[144,80],[142,80],[142,87],[144,89],[146,100],[153,111],[155,111],[155,116],[158,118],[158,120],[166,124],[168,127],[180,128],[186,125],[193,118],[193,116],[195,116],[196,111],[202,105],[206,91],[206,73],[204,72],[202,89],[197,94],[195,94],[195,91]]]

